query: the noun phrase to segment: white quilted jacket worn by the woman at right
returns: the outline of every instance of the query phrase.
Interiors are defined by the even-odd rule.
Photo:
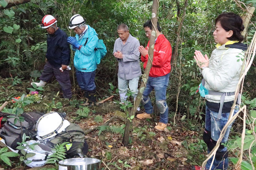
[[[228,41],[233,44],[237,41]],[[218,92],[235,92],[244,59],[244,51],[237,48],[226,48],[225,44],[216,45],[209,59],[209,68],[202,71],[205,79],[204,87],[208,90]],[[225,96],[225,101],[234,100],[235,96]],[[205,95],[209,102],[220,103],[220,96]]]

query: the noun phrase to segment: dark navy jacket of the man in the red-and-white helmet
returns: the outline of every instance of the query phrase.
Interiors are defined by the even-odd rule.
[[[53,67],[68,65],[70,62],[70,48],[67,34],[60,28],[54,34],[47,36],[46,58]]]

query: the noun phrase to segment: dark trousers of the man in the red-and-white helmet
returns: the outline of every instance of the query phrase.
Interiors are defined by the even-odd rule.
[[[59,68],[55,68],[49,62],[47,62],[44,65],[43,73],[39,79],[48,82],[52,78],[52,76],[55,76],[55,78],[59,82],[63,92],[63,97],[70,99],[72,97],[72,92],[69,79],[69,70],[64,70],[63,72],[60,72]]]

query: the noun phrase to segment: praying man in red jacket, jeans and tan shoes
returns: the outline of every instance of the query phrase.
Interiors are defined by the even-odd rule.
[[[150,39],[152,32],[152,22],[148,20],[144,25],[144,30],[146,36]],[[143,46],[139,47],[141,54],[141,61],[144,62],[144,69],[148,63],[148,47],[149,41],[146,48]],[[172,57],[172,47],[170,42],[161,33],[161,28],[157,22],[156,40],[154,46],[154,59],[153,65],[149,72],[149,77],[147,81],[146,88],[143,92],[143,99],[141,100],[145,108],[145,113],[138,114],[136,117],[138,119],[151,118],[153,113],[153,107],[148,97],[149,93],[154,89],[156,96],[156,107],[160,112],[160,120],[156,130],[162,131],[166,128],[168,123],[168,106],[166,104],[166,89],[169,83],[169,76],[171,71],[171,57]],[[150,62],[150,60],[149,60]]]

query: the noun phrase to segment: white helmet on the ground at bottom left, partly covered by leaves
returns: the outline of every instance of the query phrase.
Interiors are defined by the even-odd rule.
[[[30,140],[27,141],[27,143],[30,144],[34,144],[34,143],[38,143],[38,145],[34,145],[35,149],[32,150],[31,148],[29,148],[28,146],[24,145],[26,147],[26,149],[23,149],[25,152],[27,153],[35,153],[34,156],[27,158],[26,160],[24,160],[24,163],[29,166],[29,167],[39,167],[39,166],[44,166],[46,164],[46,159],[49,155],[52,155],[52,148],[41,144],[40,141],[37,142],[35,140]],[[27,162],[30,163],[27,163]],[[31,162],[32,161],[32,162]]]

